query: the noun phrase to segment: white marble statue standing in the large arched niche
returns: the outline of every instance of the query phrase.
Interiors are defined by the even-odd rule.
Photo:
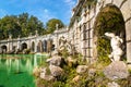
[[[121,49],[121,45],[123,40],[116,36],[114,33],[105,33],[107,37],[110,37],[110,45],[112,48],[112,52],[109,54],[109,58],[111,61],[119,61],[121,55],[123,54],[123,51]]]

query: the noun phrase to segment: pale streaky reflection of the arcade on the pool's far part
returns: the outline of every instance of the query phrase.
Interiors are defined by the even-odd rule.
[[[9,72],[32,72],[33,67],[43,63],[46,59],[45,55],[37,54],[1,54],[0,55],[0,65],[5,67]]]

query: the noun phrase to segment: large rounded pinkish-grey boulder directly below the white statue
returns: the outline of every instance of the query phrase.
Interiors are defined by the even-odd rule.
[[[127,78],[129,76],[128,67],[122,61],[114,61],[104,70],[104,74],[109,79]]]

